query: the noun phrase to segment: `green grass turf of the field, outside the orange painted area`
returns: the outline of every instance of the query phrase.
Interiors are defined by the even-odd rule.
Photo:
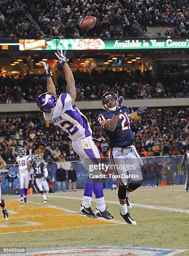
[[[106,200],[117,202],[117,191],[105,190],[104,192]],[[82,194],[82,190],[49,194],[58,197],[49,197],[48,204],[78,212],[81,203],[79,200],[59,197],[82,198]],[[28,200],[41,202],[41,197],[30,196]],[[189,209],[189,193],[184,192],[184,186],[139,188],[130,195],[130,200],[133,203],[143,205]],[[115,220],[124,221],[119,215],[119,205],[107,203],[107,206]],[[92,202],[92,208],[95,210],[95,202]],[[135,227],[120,224],[45,232],[39,230],[32,233],[1,234],[1,244],[7,247],[26,248],[124,245],[189,250],[189,213],[141,207],[133,207],[130,212],[137,221]],[[56,216],[54,221],[56,221]],[[180,253],[180,255],[189,255],[189,252]]]

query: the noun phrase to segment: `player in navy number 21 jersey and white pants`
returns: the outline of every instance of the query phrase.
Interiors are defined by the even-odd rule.
[[[102,106],[107,112],[97,116],[97,125],[105,130],[109,138],[109,157],[119,183],[118,197],[120,201],[120,215],[130,225],[136,225],[130,216],[129,208],[132,207],[128,195],[142,184],[140,165],[143,161],[136,151],[133,133],[130,129],[130,120],[145,112],[146,108],[139,108],[134,113],[129,113],[128,107],[122,106],[123,96],[119,98],[114,92],[106,92],[102,96]],[[124,175],[125,174],[125,175]],[[126,175],[135,174],[138,177],[128,184]]]

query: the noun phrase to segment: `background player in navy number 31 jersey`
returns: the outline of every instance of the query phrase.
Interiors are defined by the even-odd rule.
[[[33,178],[36,177],[36,184],[44,199],[44,203],[46,203],[47,199],[46,199],[44,190],[46,192],[49,192],[49,185],[46,181],[46,178],[48,177],[48,171],[46,168],[46,163],[41,162],[41,156],[36,156],[35,161],[31,164],[31,175],[32,175],[32,184],[33,184]]]

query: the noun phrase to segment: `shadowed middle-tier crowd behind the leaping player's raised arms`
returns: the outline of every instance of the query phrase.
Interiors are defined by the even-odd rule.
[[[151,72],[112,71],[106,69],[98,72],[93,69],[73,72],[77,84],[77,100],[101,99],[107,91],[113,91],[124,98],[150,97],[184,97],[189,96],[189,78],[180,74],[179,77],[162,76],[160,81],[153,79]],[[27,86],[26,86],[27,84]],[[57,95],[65,92],[66,81],[61,77],[57,80]],[[44,74],[0,75],[0,102],[36,101],[38,95],[46,91]]]

